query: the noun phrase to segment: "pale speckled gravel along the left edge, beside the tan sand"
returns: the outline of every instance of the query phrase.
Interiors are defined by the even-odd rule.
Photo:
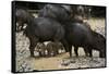
[[[33,71],[32,60],[28,60],[28,39],[22,33],[16,33],[16,72]]]

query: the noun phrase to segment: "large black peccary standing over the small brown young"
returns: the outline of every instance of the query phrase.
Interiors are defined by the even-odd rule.
[[[31,54],[34,55],[34,48],[37,42],[61,41],[64,37],[64,29],[58,22],[51,18],[38,17],[26,27],[24,34],[29,38]]]

